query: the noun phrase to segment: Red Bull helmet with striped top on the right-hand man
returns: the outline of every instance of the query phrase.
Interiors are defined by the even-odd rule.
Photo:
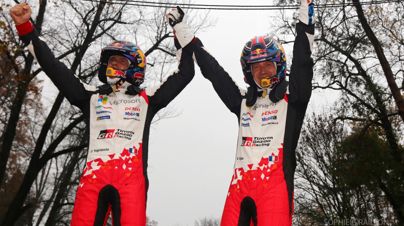
[[[246,83],[257,86],[251,73],[251,65],[263,61],[273,61],[276,64],[276,74],[270,79],[270,86],[285,79],[286,54],[282,45],[275,38],[256,36],[245,43],[241,52],[241,69]]]

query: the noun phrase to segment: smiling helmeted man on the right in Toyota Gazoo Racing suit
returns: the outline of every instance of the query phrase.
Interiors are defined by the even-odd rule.
[[[249,40],[241,55],[243,90],[205,49],[191,45],[204,77],[239,123],[234,175],[221,225],[291,225],[295,148],[312,91],[314,5],[302,0],[289,82],[280,43],[267,36]],[[172,14],[183,15],[182,10]],[[177,37],[189,28],[176,30]]]

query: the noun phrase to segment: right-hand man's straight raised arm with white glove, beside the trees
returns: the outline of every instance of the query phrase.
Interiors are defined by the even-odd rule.
[[[293,45],[293,59],[289,75],[289,101],[307,104],[312,93],[314,42],[314,4],[301,0],[299,21],[296,23],[296,37]]]

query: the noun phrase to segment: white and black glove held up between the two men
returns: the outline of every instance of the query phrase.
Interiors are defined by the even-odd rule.
[[[189,29],[188,25],[186,25],[187,18],[188,16],[185,15],[184,11],[182,11],[179,6],[177,6],[177,9],[171,11],[167,16],[167,22],[174,29],[175,36],[177,37],[181,47],[187,45],[195,37],[191,29]]]

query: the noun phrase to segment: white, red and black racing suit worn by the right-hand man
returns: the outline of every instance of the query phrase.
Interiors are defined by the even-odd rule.
[[[297,23],[296,33],[283,98],[272,102],[268,95],[260,95],[251,107],[245,103],[246,90],[231,79],[200,40],[191,44],[202,74],[239,123],[223,226],[292,223],[295,149],[312,92],[314,25]]]

